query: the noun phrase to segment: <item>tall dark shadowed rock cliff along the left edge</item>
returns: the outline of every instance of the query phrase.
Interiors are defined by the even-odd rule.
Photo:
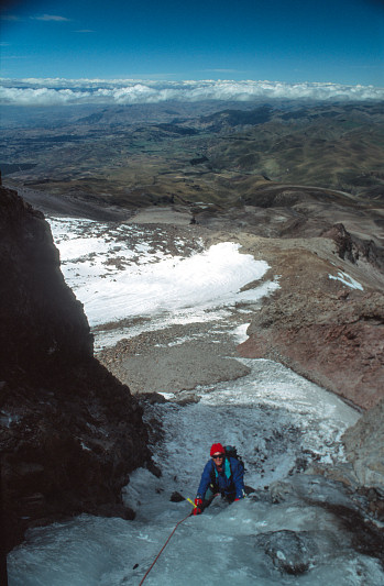
[[[132,518],[121,488],[149,463],[142,409],[94,357],[42,213],[0,188],[0,446],[6,545],[84,511]]]

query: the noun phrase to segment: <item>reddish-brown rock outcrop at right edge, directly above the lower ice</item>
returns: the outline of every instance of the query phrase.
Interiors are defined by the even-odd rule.
[[[276,297],[249,328],[241,353],[283,362],[355,406],[384,397],[384,298],[378,292]]]

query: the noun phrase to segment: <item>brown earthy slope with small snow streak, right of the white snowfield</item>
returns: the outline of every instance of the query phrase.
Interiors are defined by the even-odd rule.
[[[239,351],[282,362],[370,409],[384,398],[383,256],[340,226],[333,232],[345,237],[330,231],[246,243],[268,261],[281,287],[254,314]]]

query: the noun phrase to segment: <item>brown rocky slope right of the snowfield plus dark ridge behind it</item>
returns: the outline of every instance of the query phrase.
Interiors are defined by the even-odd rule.
[[[222,230],[216,237],[238,239],[266,259],[266,278],[279,275],[281,288],[254,314],[240,354],[278,360],[358,407],[373,407],[384,396],[383,207],[298,186],[254,194],[243,210],[198,217]]]

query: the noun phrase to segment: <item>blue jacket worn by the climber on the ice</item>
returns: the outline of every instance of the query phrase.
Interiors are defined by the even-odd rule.
[[[196,498],[204,500],[205,494],[212,480],[218,487],[219,493],[224,495],[235,494],[234,498],[243,498],[244,468],[235,457],[226,457],[221,473],[218,473],[212,460],[207,462],[201,474]]]

